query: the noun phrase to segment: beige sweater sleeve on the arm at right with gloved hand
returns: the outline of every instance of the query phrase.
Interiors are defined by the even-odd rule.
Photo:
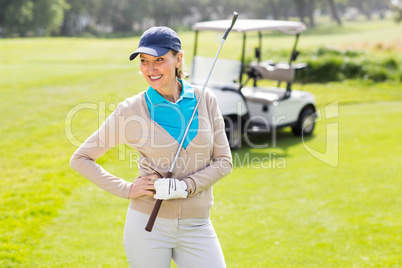
[[[209,113],[212,115],[213,150],[211,164],[195,172],[184,181],[187,184],[189,196],[204,191],[232,172],[232,155],[225,134],[225,123],[218,107],[218,101],[212,93],[205,91],[209,103]]]

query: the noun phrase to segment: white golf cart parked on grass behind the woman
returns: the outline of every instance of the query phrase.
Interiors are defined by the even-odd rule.
[[[224,32],[230,20],[198,22],[193,25],[195,31],[194,57],[190,81],[203,85],[212,66],[213,58],[197,55],[200,31]],[[220,111],[225,119],[226,134],[232,149],[241,146],[246,133],[272,132],[278,128],[292,127],[297,136],[307,136],[313,132],[316,103],[309,92],[292,90],[296,71],[306,64],[294,64],[300,33],[306,30],[301,22],[278,20],[239,19],[232,28],[232,34],[243,34],[240,60],[218,58],[208,87],[216,95]],[[262,60],[262,32],[279,31],[293,34],[296,41],[291,51],[289,62],[274,63]],[[246,64],[246,39],[249,32],[258,33],[258,47],[255,48],[255,61]],[[246,78],[246,79],[244,79]],[[249,80],[253,86],[246,86]],[[276,87],[259,87],[262,79],[277,81]],[[243,81],[245,80],[245,81]],[[286,88],[281,88],[286,83]]]

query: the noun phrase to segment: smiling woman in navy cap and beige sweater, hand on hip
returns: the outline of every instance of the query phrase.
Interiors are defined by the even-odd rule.
[[[165,178],[201,89],[183,80],[181,41],[168,27],[141,36],[140,70],[149,88],[121,102],[105,123],[74,153],[70,165],[102,189],[130,199],[124,247],[130,267],[226,267],[209,220],[212,185],[232,170],[223,118],[205,90],[173,169]],[[127,182],[95,161],[125,143],[141,155],[139,176]],[[152,232],[145,231],[155,199],[164,202]]]

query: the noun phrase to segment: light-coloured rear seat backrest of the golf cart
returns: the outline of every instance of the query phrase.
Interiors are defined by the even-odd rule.
[[[306,66],[305,63],[289,65],[286,62],[277,64],[272,64],[272,61],[252,62],[249,66],[249,75],[257,80],[268,79],[291,83],[295,79],[296,70]]]

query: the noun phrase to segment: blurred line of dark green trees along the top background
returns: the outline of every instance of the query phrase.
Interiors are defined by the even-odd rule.
[[[342,25],[354,7],[367,19],[391,10],[389,0],[0,0],[0,36],[140,33],[153,25],[190,29],[197,21],[289,19],[315,27],[317,12]]]

